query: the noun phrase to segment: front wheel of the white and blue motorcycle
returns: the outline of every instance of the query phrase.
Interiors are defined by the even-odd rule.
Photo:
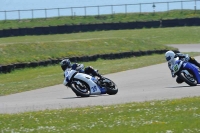
[[[73,92],[77,95],[77,96],[81,96],[81,97],[89,97],[90,96],[90,87],[89,85],[79,79],[74,79],[71,82],[70,88],[73,90]]]

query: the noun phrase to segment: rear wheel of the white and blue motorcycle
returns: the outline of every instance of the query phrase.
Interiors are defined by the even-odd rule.
[[[103,87],[106,88],[106,90],[107,90],[106,93],[107,94],[109,94],[109,95],[117,94],[117,92],[118,92],[117,85],[112,80],[110,80],[108,78],[104,78],[103,81],[104,81],[103,82]]]

